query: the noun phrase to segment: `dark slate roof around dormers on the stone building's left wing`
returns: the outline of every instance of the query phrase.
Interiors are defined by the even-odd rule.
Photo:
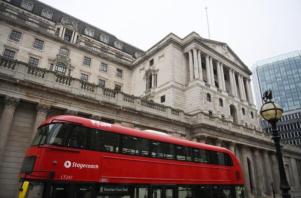
[[[97,40],[97,41],[100,41],[100,35],[105,35],[105,36],[109,37],[109,43],[107,45],[116,48],[114,46],[114,41],[118,41],[118,42],[122,43],[122,50],[121,51],[123,51],[123,52],[125,52],[127,54],[130,54],[130,55],[133,56],[135,52],[138,52],[140,54],[144,52],[143,50],[141,50],[141,49],[139,49],[137,47],[134,47],[134,46],[132,46],[132,45],[130,45],[130,44],[124,42],[124,41],[121,41],[121,40],[117,39],[114,35],[106,32],[106,31],[103,31],[103,30],[101,30],[101,29],[99,29],[99,28],[97,28],[97,27],[95,27],[93,25],[85,23],[85,22],[83,22],[83,21],[81,21],[81,20],[79,20],[79,19],[77,19],[75,17],[72,17],[72,16],[70,16],[70,15],[68,15],[68,14],[66,14],[66,13],[64,13],[62,11],[59,11],[59,10],[57,10],[57,9],[51,7],[51,6],[48,6],[48,5],[46,5],[46,4],[42,3],[42,2],[39,2],[37,0],[26,0],[26,1],[29,2],[29,3],[34,4],[34,7],[33,7],[32,11],[26,10],[28,12],[31,12],[31,13],[33,13],[35,15],[43,17],[43,16],[41,16],[42,10],[46,9],[46,10],[48,10],[48,11],[50,11],[50,12],[53,13],[52,19],[51,20],[47,19],[47,20],[50,20],[50,21],[52,21],[54,23],[61,23],[62,18],[64,17],[64,18],[66,18],[68,20],[71,20],[71,21],[77,23],[78,24],[77,25],[77,29],[79,30],[79,32],[81,34],[85,34],[84,33],[85,28],[89,28],[89,29],[91,29],[91,30],[94,31],[94,36],[92,38],[95,39],[95,40]],[[19,7],[21,9],[23,9],[21,7],[22,2],[23,2],[23,0],[11,0],[11,2],[8,2],[8,3],[12,4],[13,6],[16,6],[16,7]]]

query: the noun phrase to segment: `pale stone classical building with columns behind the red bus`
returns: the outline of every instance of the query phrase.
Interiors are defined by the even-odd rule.
[[[226,147],[243,167],[248,196],[279,186],[251,71],[226,43],[169,34],[144,52],[34,0],[0,1],[0,37],[0,197],[16,195],[37,127],[63,114]],[[301,150],[282,151],[300,191]]]

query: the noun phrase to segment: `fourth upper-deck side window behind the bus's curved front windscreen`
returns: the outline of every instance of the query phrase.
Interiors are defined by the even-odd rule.
[[[174,145],[166,142],[153,141],[152,142],[152,157],[175,159]]]

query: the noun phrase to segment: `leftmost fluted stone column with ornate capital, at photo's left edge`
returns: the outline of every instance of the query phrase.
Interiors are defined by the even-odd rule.
[[[0,164],[4,155],[13,117],[20,100],[15,97],[6,96],[4,98],[4,110],[0,120]]]

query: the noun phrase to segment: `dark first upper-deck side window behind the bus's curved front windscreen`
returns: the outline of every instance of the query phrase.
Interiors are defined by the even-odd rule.
[[[87,145],[88,128],[75,126],[71,132],[67,146],[85,149]]]

